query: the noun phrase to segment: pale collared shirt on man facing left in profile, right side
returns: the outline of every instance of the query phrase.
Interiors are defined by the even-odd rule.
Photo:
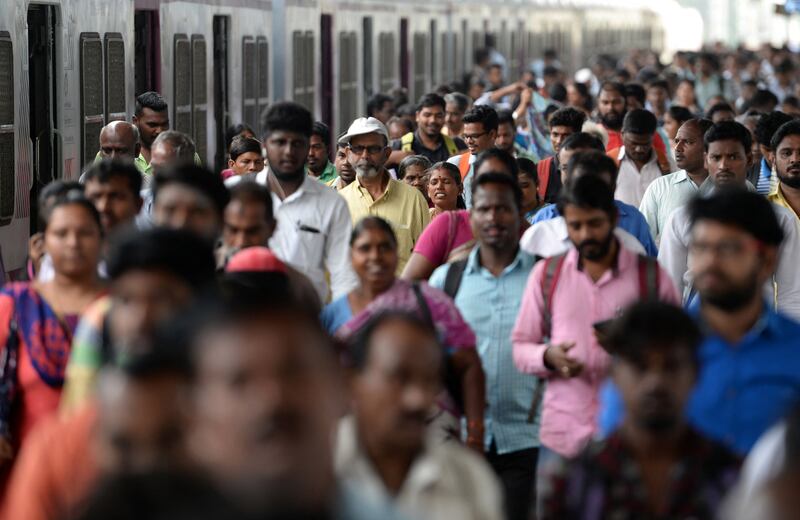
[[[688,203],[698,193],[708,193],[713,186],[710,177],[706,177],[698,186],[686,170],[664,175],[650,183],[644,192],[639,211],[644,215],[656,242],[661,239],[670,213]]]

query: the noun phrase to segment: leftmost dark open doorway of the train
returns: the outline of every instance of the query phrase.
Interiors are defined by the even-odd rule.
[[[31,233],[37,231],[37,201],[40,190],[61,177],[60,149],[56,127],[56,8],[28,7],[28,87],[30,136],[33,144],[31,186]]]

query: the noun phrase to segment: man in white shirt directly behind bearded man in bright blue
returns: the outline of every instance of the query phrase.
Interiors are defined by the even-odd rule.
[[[711,127],[703,137],[705,163],[714,191],[724,188],[744,189],[747,167],[750,164],[752,138],[750,131],[733,121],[723,121]],[[800,259],[800,234],[794,214],[772,204],[783,229],[783,242],[778,252],[774,276],[765,282],[765,299],[791,317],[800,317],[800,278],[797,261]],[[682,206],[667,219],[661,232],[658,261],[672,277],[678,293],[689,300],[694,296],[689,272],[689,240],[691,220],[687,206]]]

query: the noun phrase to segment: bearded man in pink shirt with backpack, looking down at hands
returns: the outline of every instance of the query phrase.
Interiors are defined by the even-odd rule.
[[[575,247],[534,267],[511,340],[517,369],[547,380],[542,445],[573,457],[597,431],[598,392],[609,366],[593,325],[638,299],[679,299],[653,259],[620,245],[618,210],[605,181],[578,177],[558,206]],[[643,283],[645,272],[652,283]]]

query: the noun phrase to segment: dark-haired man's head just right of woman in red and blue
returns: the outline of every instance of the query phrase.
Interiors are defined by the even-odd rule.
[[[120,159],[93,164],[83,177],[84,193],[100,213],[106,236],[131,226],[142,209],[142,174]]]

